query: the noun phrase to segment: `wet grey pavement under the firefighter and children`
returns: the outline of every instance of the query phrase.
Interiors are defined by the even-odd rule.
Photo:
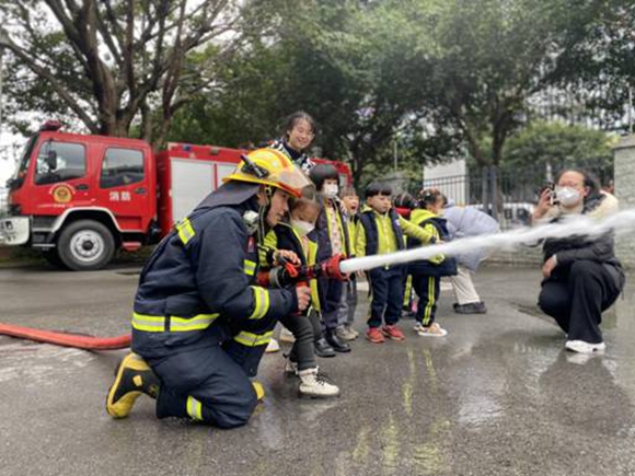
[[[0,322],[124,334],[137,271],[0,270]],[[488,267],[476,286],[489,313],[453,314],[443,291],[444,338],[405,320],[405,343],[358,339],[321,360],[343,391],[334,400],[299,399],[281,353],[265,356],[266,399],[229,431],[157,420],[145,397],[112,420],[123,351],[0,337],[0,475],[635,475],[634,283],[590,359],[564,352],[538,311],[538,270]]]

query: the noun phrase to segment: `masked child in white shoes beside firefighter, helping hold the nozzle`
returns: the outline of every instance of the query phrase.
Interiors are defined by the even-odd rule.
[[[299,198],[289,200],[290,223],[280,222],[267,233],[265,245],[269,249],[293,252],[301,265],[314,265],[318,244],[313,231],[320,206],[312,199]],[[262,260],[262,258],[261,258]],[[269,263],[263,265],[270,266]],[[322,334],[320,325],[320,299],[318,282],[310,281],[312,305],[301,315],[288,315],[280,322],[293,334],[296,341],[286,364],[288,373],[296,373],[300,379],[299,393],[311,397],[333,397],[339,395],[339,388],[324,381],[318,373],[313,349],[314,336]]]

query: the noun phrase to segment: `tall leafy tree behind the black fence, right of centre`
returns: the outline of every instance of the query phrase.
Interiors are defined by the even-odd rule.
[[[478,165],[498,165],[527,117],[527,100],[551,84],[558,58],[584,38],[598,2],[412,0],[419,116],[460,135]],[[394,8],[397,8],[394,4]],[[418,78],[423,78],[418,80]],[[489,150],[483,149],[488,138]]]

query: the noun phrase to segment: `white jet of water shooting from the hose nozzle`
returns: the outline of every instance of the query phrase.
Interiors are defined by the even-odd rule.
[[[624,210],[598,220],[585,214],[563,217],[557,223],[523,227],[504,233],[471,236],[438,245],[422,246],[385,255],[363,256],[346,259],[339,264],[342,272],[367,271],[383,266],[399,265],[429,259],[439,254],[455,256],[481,249],[508,249],[519,246],[535,246],[544,239],[578,236],[600,236],[610,231],[617,235],[635,231],[635,210]]]

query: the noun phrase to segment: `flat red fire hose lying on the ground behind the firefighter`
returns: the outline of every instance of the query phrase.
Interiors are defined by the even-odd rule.
[[[0,335],[84,350],[116,350],[130,347],[129,334],[118,337],[93,337],[0,324]]]

